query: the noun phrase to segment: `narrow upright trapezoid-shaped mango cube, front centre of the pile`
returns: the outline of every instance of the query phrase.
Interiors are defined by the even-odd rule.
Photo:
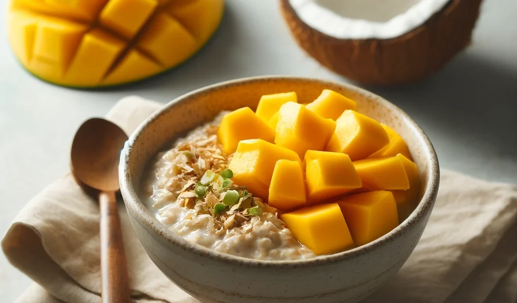
[[[305,181],[299,161],[278,160],[269,186],[268,204],[280,210],[292,210],[307,202]]]

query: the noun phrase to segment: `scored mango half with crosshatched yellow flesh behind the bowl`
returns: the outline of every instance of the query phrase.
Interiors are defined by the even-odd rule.
[[[224,0],[12,0],[8,36],[37,77],[108,86],[170,69],[199,50]]]

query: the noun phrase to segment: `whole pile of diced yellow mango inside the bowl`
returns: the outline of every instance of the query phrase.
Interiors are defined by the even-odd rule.
[[[233,181],[280,210],[315,254],[361,246],[396,228],[419,195],[402,137],[329,89],[308,104],[295,92],[262,96],[255,112],[226,114],[218,130]]]

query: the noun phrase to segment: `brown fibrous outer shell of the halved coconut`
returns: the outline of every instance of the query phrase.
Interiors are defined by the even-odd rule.
[[[362,84],[395,85],[425,78],[469,43],[482,0],[451,0],[422,25],[390,39],[339,39],[304,23],[280,0],[299,46],[323,66]]]

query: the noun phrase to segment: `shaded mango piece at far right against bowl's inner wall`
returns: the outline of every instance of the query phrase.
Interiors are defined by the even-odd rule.
[[[407,190],[392,190],[395,202],[397,202],[397,209],[399,213],[399,221],[404,221],[420,202],[418,196],[420,193],[420,178],[418,177],[418,167],[413,161],[407,159],[404,155],[398,154],[397,157],[404,164],[407,178],[409,180],[409,189]]]

